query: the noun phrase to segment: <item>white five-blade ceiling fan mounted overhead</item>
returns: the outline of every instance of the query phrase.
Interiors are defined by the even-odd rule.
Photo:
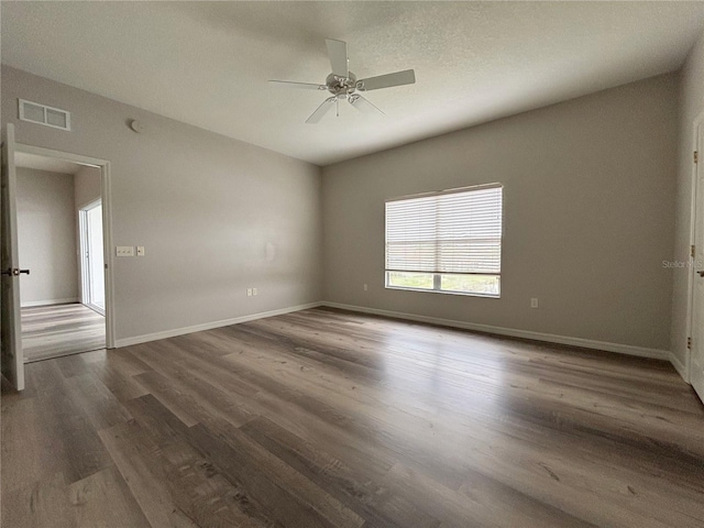
[[[328,55],[332,73],[326,78],[324,85],[315,82],[295,82],[290,80],[270,80],[270,85],[290,86],[307,90],[328,90],[332,94],[315,112],[306,120],[306,123],[318,123],[332,107],[336,107],[337,116],[340,116],[340,99],[346,99],[350,105],[364,113],[384,113],[367,99],[362,97],[360,91],[378,90],[393,86],[413,85],[416,82],[416,74],[413,69],[396,72],[394,74],[378,75],[366,79],[359,79],[348,67],[348,44],[334,38],[326,38]]]

